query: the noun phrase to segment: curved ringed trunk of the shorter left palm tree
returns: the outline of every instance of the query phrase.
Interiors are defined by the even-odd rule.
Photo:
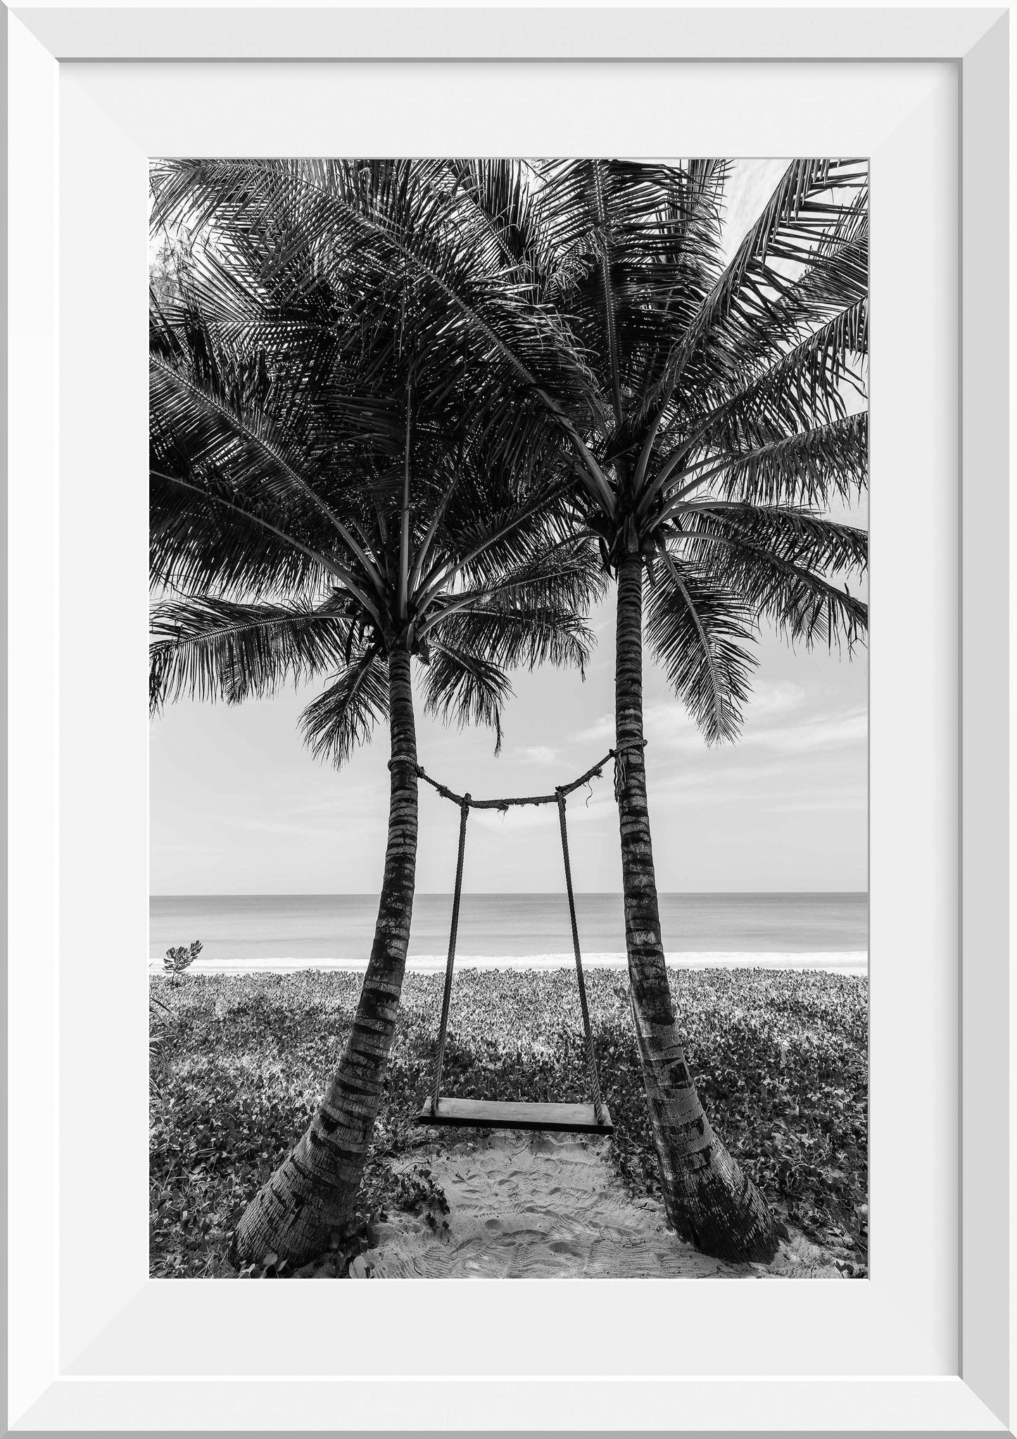
[[[233,1240],[240,1259],[257,1261],[275,1252],[301,1263],[321,1253],[329,1230],[350,1217],[360,1190],[396,1032],[417,863],[417,737],[404,649],[388,658],[388,846],[357,1016],[318,1112],[240,1219]]]

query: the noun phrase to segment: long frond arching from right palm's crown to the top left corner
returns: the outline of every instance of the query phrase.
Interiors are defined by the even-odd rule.
[[[526,456],[548,423],[585,410],[583,355],[514,269],[492,269],[491,227],[440,161],[171,161],[154,191],[157,216],[188,203],[193,227],[214,233],[227,259],[259,255],[266,283],[301,256],[328,255],[319,263],[338,263],[337,289],[355,266],[355,294],[345,283],[354,314],[370,314],[396,285],[414,353],[460,389],[469,378],[473,413],[502,449]],[[357,324],[344,334],[360,342]]]

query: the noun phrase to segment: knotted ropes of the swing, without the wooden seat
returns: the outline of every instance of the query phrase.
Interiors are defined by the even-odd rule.
[[[619,796],[619,789],[624,783],[624,751],[626,750],[642,750],[646,747],[646,740],[630,741],[629,744],[620,744],[617,750],[608,750],[603,760],[591,766],[585,774],[580,774],[577,780],[571,784],[560,784],[555,787],[554,794],[528,794],[516,796],[512,799],[501,800],[475,800],[469,793],[456,794],[446,784],[439,784],[433,780],[430,774],[426,774],[423,767],[407,757],[397,757],[388,761],[388,768],[394,768],[396,764],[410,764],[417,777],[424,780],[437,793],[450,800],[453,804],[459,806],[459,856],[456,859],[456,889],[452,898],[452,925],[449,928],[449,955],[444,964],[444,989],[442,991],[442,1022],[437,1032],[437,1056],[434,1062],[434,1086],[430,1099],[432,1115],[437,1114],[439,1098],[442,1092],[442,1069],[444,1065],[444,1040],[449,1030],[449,1006],[452,1002],[452,971],[456,963],[456,938],[459,934],[459,902],[462,899],[463,891],[463,859],[466,856],[466,822],[469,819],[469,812],[472,809],[496,809],[506,812],[512,806],[522,804],[557,804],[558,806],[558,826],[561,829],[561,858],[565,866],[565,891],[568,894],[568,917],[573,925],[573,951],[575,954],[575,979],[580,990],[580,1010],[583,1012],[583,1030],[585,1035],[585,1052],[587,1052],[587,1068],[590,1072],[590,1085],[593,1089],[593,1111],[597,1124],[603,1122],[603,1099],[600,1094],[600,1075],[597,1073],[597,1052],[593,1043],[593,1026],[590,1025],[590,1006],[587,1004],[587,990],[585,979],[583,976],[583,953],[580,950],[580,930],[575,920],[575,894],[573,892],[573,866],[568,858],[568,826],[565,822],[565,799],[573,790],[578,790],[583,784],[588,784],[593,778],[600,778],[604,766],[608,760],[614,760],[614,797]]]

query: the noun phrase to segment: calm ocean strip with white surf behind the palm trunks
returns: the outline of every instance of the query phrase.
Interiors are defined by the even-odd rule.
[[[669,961],[865,971],[866,894],[662,894]],[[152,895],[148,954],[200,940],[196,968],[360,968],[367,963],[377,895]],[[624,963],[619,894],[575,896],[584,963]],[[410,966],[444,964],[452,895],[417,895]],[[549,967],[573,963],[564,894],[462,898],[456,961]]]

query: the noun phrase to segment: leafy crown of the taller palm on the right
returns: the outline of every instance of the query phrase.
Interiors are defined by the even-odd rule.
[[[450,168],[561,357],[532,419],[580,522],[607,568],[642,555],[652,650],[734,738],[761,622],[849,650],[867,626],[866,535],[829,514],[867,481],[867,167],[793,161],[731,256],[725,161]]]

